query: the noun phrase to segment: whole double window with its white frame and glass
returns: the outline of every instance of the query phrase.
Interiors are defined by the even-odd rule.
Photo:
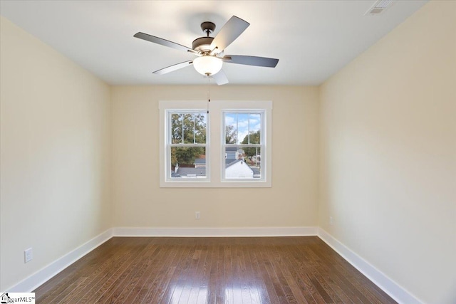
[[[160,187],[271,187],[271,110],[270,101],[160,101]]]

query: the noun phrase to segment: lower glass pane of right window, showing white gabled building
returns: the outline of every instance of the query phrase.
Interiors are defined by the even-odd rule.
[[[261,178],[260,147],[225,147],[225,179],[257,178]]]

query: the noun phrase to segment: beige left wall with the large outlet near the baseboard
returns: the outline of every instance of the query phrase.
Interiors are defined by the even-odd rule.
[[[3,17],[0,35],[0,290],[8,290],[111,227],[110,88]]]

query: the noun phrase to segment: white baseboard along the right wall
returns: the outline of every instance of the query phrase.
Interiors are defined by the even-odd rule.
[[[375,285],[381,288],[385,293],[388,293],[398,303],[404,304],[420,304],[420,300],[415,298],[411,293],[395,283],[393,280],[385,276],[381,271],[372,266],[366,260],[358,256],[356,253],[347,248],[343,243],[335,239],[331,234],[318,228],[318,237],[327,243],[331,248],[339,253],[343,258],[351,263],[353,267],[358,269],[369,280],[373,281]]]

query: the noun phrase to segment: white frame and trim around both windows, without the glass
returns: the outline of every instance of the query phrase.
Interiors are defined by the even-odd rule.
[[[271,187],[272,186],[272,101],[260,100],[161,100],[160,110],[160,187]],[[178,180],[167,177],[167,112],[170,110],[207,111],[206,178]],[[224,112],[263,112],[264,147],[261,149],[261,179],[224,179]]]

